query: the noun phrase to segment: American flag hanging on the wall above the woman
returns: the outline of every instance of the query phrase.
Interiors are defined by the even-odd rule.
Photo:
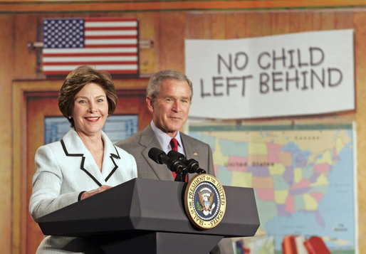
[[[44,75],[66,75],[79,65],[137,75],[137,19],[45,18],[42,58]]]

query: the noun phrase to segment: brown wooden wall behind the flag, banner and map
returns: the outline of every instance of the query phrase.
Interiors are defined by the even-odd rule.
[[[255,2],[248,1],[253,6],[241,6],[235,3],[221,9],[211,6],[210,2],[192,1],[190,8],[175,6],[161,6],[155,3],[135,6],[108,6],[99,4],[99,9],[91,4],[78,5],[70,9],[70,4],[44,7],[32,7],[25,1],[24,4],[0,4],[0,253],[21,253],[21,246],[12,241],[12,223],[16,200],[13,200],[13,166],[17,155],[12,154],[14,147],[14,132],[12,123],[12,108],[14,107],[13,80],[40,80],[44,78],[37,73],[36,51],[27,48],[27,44],[37,41],[39,26],[45,17],[84,17],[84,16],[135,16],[140,21],[140,40],[153,41],[152,48],[140,50],[140,72],[148,76],[157,70],[173,68],[184,72],[184,38],[248,38],[268,36],[274,34],[293,33],[300,31],[320,31],[330,29],[355,30],[355,86],[356,110],[338,114],[290,117],[294,123],[318,122],[349,122],[357,123],[357,181],[358,181],[358,213],[359,213],[359,244],[360,250],[366,248],[366,194],[365,184],[366,159],[366,4],[362,1],[347,1],[347,8],[340,9],[335,1],[329,2],[326,9],[319,6],[308,6],[306,1],[296,1],[300,6],[276,6],[272,9],[271,1],[262,2],[262,6],[255,6]],[[219,1],[221,4],[223,1]],[[228,1],[231,2],[231,1]],[[291,1],[284,1],[288,4]],[[363,1],[364,2],[364,1]],[[267,5],[266,5],[267,3]],[[345,1],[337,1],[342,6]],[[193,4],[193,5],[192,5]],[[200,6],[195,9],[194,4]],[[246,3],[248,4],[248,3]],[[363,4],[363,5],[362,5]],[[353,5],[353,7],[352,7]],[[308,9],[300,8],[301,6]],[[323,6],[327,4],[323,3]],[[4,7],[4,8],[2,8]],[[94,9],[92,9],[92,7]],[[110,7],[110,8],[108,8]],[[219,6],[221,7],[221,6]],[[56,9],[57,8],[57,9]],[[61,8],[61,9],[60,9]],[[128,9],[130,8],[130,9]],[[17,11],[18,10],[18,11]],[[53,10],[58,12],[53,13]],[[105,10],[105,11],[98,11]],[[108,11],[110,10],[110,11]],[[6,25],[4,25],[6,24]],[[273,122],[283,118],[268,119]],[[21,121],[21,120],[20,120]],[[255,122],[256,120],[244,120]],[[23,145],[23,144],[22,144]],[[21,154],[19,154],[19,158]],[[15,205],[14,205],[15,204]]]

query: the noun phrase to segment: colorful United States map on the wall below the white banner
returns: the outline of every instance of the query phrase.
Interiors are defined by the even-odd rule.
[[[221,184],[254,189],[258,232],[274,238],[276,252],[284,236],[300,235],[355,253],[354,133],[351,123],[189,126],[191,137],[211,146]]]

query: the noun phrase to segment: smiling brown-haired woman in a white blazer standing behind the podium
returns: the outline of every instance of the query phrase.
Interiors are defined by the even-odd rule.
[[[61,87],[58,106],[70,131],[36,152],[29,211],[34,221],[48,213],[137,177],[135,158],[115,147],[102,131],[117,105],[107,73],[88,66],[73,70]],[[82,238],[45,236],[37,253],[100,253]]]

